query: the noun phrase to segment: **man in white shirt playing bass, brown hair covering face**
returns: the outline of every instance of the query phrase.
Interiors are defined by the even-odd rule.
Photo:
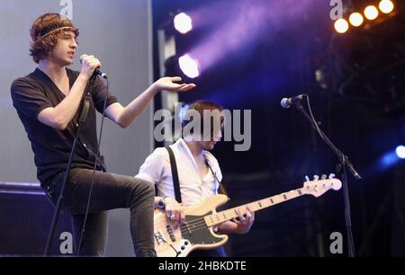
[[[211,116],[204,116],[204,111],[210,111]],[[155,184],[157,189],[155,208],[165,208],[167,218],[175,221],[178,226],[184,224],[184,207],[197,205],[222,189],[220,165],[209,152],[222,137],[221,129],[224,120],[220,111],[222,111],[222,107],[215,102],[198,101],[190,105],[184,115],[184,118],[190,119],[183,120],[183,129],[187,125],[190,126],[190,123],[200,126],[210,125],[210,129],[204,131],[202,127],[201,130],[192,128],[188,135],[179,138],[168,148],[158,147],[151,155],[148,155],[136,175],[138,178]],[[213,123],[204,121],[204,119],[209,119]],[[214,123],[220,123],[220,127],[214,127]],[[212,134],[214,129],[218,130]],[[175,163],[175,167],[171,163]],[[218,234],[246,234],[254,220],[253,211],[249,208],[240,208],[238,218],[214,227],[213,231]],[[208,250],[193,250],[188,255],[225,257],[226,253],[223,246],[220,246]]]

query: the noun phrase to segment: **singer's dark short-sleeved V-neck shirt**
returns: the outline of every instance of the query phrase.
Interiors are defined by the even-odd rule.
[[[79,72],[67,68],[69,86],[72,88]],[[86,88],[87,89],[87,88]],[[72,159],[72,168],[93,169],[97,151],[96,117],[95,109],[103,113],[103,104],[107,96],[106,107],[117,102],[117,99],[108,93],[103,81],[96,78],[91,93],[92,100],[89,110],[80,130],[75,155]],[[56,84],[36,69],[30,75],[14,80],[11,86],[11,95],[14,108],[31,141],[34,161],[37,166],[37,177],[42,187],[49,184],[54,176],[66,170],[70,151],[76,136],[76,121],[82,110],[83,100],[76,111],[76,115],[64,130],[53,129],[38,120],[40,111],[56,107],[66,96]],[[95,108],[94,108],[95,107]],[[103,169],[101,166],[98,170]]]

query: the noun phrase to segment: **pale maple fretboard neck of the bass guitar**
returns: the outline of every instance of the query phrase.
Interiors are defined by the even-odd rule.
[[[261,209],[272,207],[276,204],[282,203],[287,200],[293,200],[295,198],[301,197],[305,193],[302,191],[303,188],[299,188],[293,191],[288,191],[279,195],[275,195],[272,197],[268,197],[266,199],[253,201],[236,208],[229,208],[227,210],[223,210],[217,212],[212,215],[207,215],[204,217],[205,223],[207,226],[217,226],[223,222],[229,221],[232,218],[239,217],[240,215],[244,215],[245,211],[244,208],[247,207],[252,211],[258,211]]]

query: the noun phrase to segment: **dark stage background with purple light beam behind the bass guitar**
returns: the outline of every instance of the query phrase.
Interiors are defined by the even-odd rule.
[[[344,16],[378,2],[343,1]],[[326,0],[153,0],[152,4],[156,78],[157,28],[178,11],[200,15],[193,31],[175,35],[180,55],[211,45],[200,47],[206,55],[200,60],[202,67],[238,41],[237,48],[221,52],[221,58],[214,58],[199,77],[190,80],[181,75],[197,84],[193,93],[180,95],[182,102],[206,99],[229,110],[252,110],[250,150],[235,152],[232,142],[222,142],[213,151],[231,199],[228,207],[300,188],[305,175],[335,173],[338,158],[309,121],[295,108],[280,107],[283,97],[307,93],[321,128],[363,177],[356,181],[348,173],[356,254],[405,255],[404,163],[390,158],[405,137],[401,1],[395,1],[395,15],[344,35],[334,34],[329,18],[333,7]],[[238,8],[238,4],[246,5]],[[247,16],[252,11],[257,15]],[[244,16],[247,20],[241,21]],[[244,25],[236,31],[222,28],[232,21]],[[218,33],[221,28],[223,37]],[[173,29],[166,24],[166,31]],[[181,74],[178,68],[166,69],[167,75]],[[347,255],[342,190],[257,212],[250,233],[232,235],[227,250],[234,256],[336,256],[329,252],[333,232],[343,234]]]

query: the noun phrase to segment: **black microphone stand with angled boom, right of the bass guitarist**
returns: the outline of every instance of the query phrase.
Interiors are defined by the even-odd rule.
[[[311,126],[313,129],[316,129],[320,137],[322,138],[323,141],[332,149],[333,152],[335,152],[336,155],[338,155],[339,162],[341,164],[341,179],[343,182],[343,197],[344,197],[344,202],[345,202],[345,223],[346,223],[346,228],[347,228],[347,249],[348,249],[348,255],[349,257],[355,257],[356,256],[356,251],[355,251],[355,242],[353,239],[353,234],[352,234],[352,220],[350,217],[350,200],[349,200],[349,193],[348,193],[348,184],[347,184],[347,174],[346,174],[346,167],[352,173],[356,180],[361,180],[362,177],[359,175],[359,173],[356,172],[356,169],[354,168],[353,164],[349,161],[347,155],[343,154],[342,151],[340,151],[325,135],[325,133],[320,129],[317,121],[312,120],[311,116],[308,114],[307,111],[305,111],[302,107],[302,103],[300,101],[294,102],[295,107],[299,111],[302,112],[302,114],[311,122]]]

